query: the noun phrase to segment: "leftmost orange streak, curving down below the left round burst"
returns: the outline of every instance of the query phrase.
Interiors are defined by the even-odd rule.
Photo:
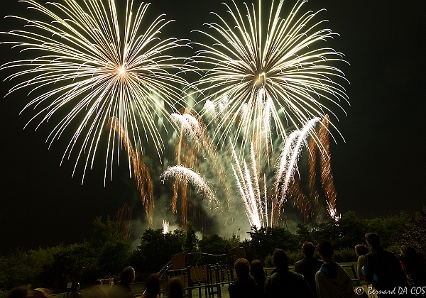
[[[133,167],[133,174],[135,176],[136,185],[139,192],[141,192],[142,204],[145,207],[146,216],[148,218],[148,228],[153,225],[153,207],[154,207],[154,189],[153,180],[149,173],[148,167],[143,162],[141,153],[136,149],[133,150],[133,146],[126,135],[124,127],[121,125],[119,118],[111,117],[106,125],[107,129],[114,129],[119,135],[124,147],[129,153],[131,165]]]

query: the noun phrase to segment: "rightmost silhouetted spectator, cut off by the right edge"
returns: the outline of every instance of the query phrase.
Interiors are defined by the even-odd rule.
[[[400,250],[399,260],[407,277],[408,285],[410,288],[415,288],[413,293],[418,294],[418,297],[426,297],[426,294],[422,293],[425,290],[422,287],[426,286],[426,264],[423,254],[417,253],[408,245],[402,245]]]

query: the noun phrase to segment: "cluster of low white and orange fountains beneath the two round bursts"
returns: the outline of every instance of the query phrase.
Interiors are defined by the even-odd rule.
[[[220,108],[215,110],[220,110]],[[325,143],[329,136],[327,118],[324,119],[323,123],[319,123],[320,118],[314,118],[302,129],[293,131],[288,136],[281,148],[280,158],[276,162],[275,180],[271,180],[268,166],[268,162],[273,164],[275,162],[262,160],[262,156],[259,156],[258,152],[254,150],[253,143],[250,146],[249,158],[241,159],[237,154],[237,150],[239,150],[237,146],[241,144],[233,143],[232,138],[229,137],[228,147],[219,154],[214,146],[201,145],[202,143],[210,144],[212,140],[206,133],[204,124],[200,122],[202,120],[199,117],[190,114],[176,114],[173,115],[173,118],[180,123],[182,130],[179,148],[182,149],[182,133],[185,132],[191,142],[187,147],[190,148],[189,154],[193,162],[191,167],[182,165],[168,167],[168,170],[163,172],[161,177],[163,180],[174,178],[174,187],[177,187],[178,184],[185,184],[185,192],[182,192],[181,202],[182,226],[185,226],[187,220],[187,183],[195,185],[200,190],[200,195],[205,199],[211,201],[210,198],[217,198],[217,202],[220,204],[214,204],[214,208],[210,209],[216,215],[224,215],[226,220],[232,221],[232,216],[237,217],[245,212],[250,226],[256,226],[256,228],[280,224],[280,221],[283,220],[282,213],[285,203],[289,199],[293,200],[293,206],[300,211],[305,221],[320,218],[324,211],[324,204],[322,201],[320,202],[320,195],[317,194],[317,191],[312,189],[317,187],[316,181],[311,183],[312,179],[309,180],[309,194],[304,194],[302,189],[295,191],[300,186],[297,163],[300,155],[302,155],[302,148],[307,149],[307,138],[312,135],[319,136],[310,138],[309,150],[312,150],[312,153],[308,150],[305,153],[308,153],[308,155],[315,153],[315,156],[322,156],[320,163],[321,182],[325,196],[321,196],[321,199],[326,200],[327,206],[325,208],[329,211],[330,216],[334,216],[336,196],[332,188],[331,165],[329,163],[329,151],[327,151],[329,148],[322,145],[322,142]],[[315,133],[315,131],[318,131],[318,133]],[[210,151],[210,153],[204,151]],[[185,153],[188,154],[187,150],[185,150]],[[203,157],[200,163],[195,162],[197,154]],[[323,155],[326,157],[323,157]],[[178,153],[178,156],[180,156],[180,153]],[[310,171],[317,172],[317,169],[315,170],[316,164],[315,160],[310,160]],[[202,177],[200,172],[205,176]],[[325,178],[323,178],[324,172],[328,173]],[[315,180],[315,175],[313,176]],[[275,181],[275,184],[272,181]],[[226,191],[224,191],[225,189]],[[332,192],[328,192],[327,189],[331,189]],[[314,193],[317,195],[312,195]],[[177,202],[178,193],[176,192],[172,206],[176,206]]]

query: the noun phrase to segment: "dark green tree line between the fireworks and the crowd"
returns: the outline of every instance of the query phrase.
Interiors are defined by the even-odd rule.
[[[272,267],[274,248],[285,250],[290,262],[295,263],[303,257],[303,242],[315,244],[326,239],[336,249],[337,262],[352,262],[356,261],[354,246],[365,243],[364,235],[368,232],[378,233],[382,246],[394,253],[405,244],[425,254],[426,206],[414,217],[401,211],[395,216],[358,219],[354,211],[347,211],[338,222],[327,219],[320,223],[298,223],[295,233],[278,226],[253,227],[243,240],[236,234],[230,238],[204,235],[199,239],[191,224],[186,231],[166,234],[163,229],[148,228],[134,250],[131,241],[120,232],[118,222],[97,217],[89,241],[37,250],[17,248],[9,255],[0,255],[0,294],[21,285],[58,291],[65,290],[67,282],[91,286],[99,279],[119,279],[121,270],[128,265],[135,268],[136,281],[143,281],[150,273],[161,270],[171,255],[182,251],[221,255],[231,248],[243,247],[249,260],[258,259],[266,267]],[[212,262],[206,255],[187,259],[192,265]]]

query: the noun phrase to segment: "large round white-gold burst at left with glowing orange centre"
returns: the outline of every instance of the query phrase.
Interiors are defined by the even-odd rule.
[[[142,32],[149,4],[142,3],[135,13],[133,1],[127,1],[124,35],[121,35],[114,0],[109,0],[107,6],[100,0],[84,1],[84,6],[75,0],[65,0],[49,3],[50,9],[34,0],[22,2],[51,22],[12,16],[26,21],[27,25],[25,30],[1,32],[16,38],[3,43],[23,48],[26,53],[41,51],[45,55],[8,62],[1,65],[0,70],[23,68],[6,79],[31,76],[31,79],[23,78],[23,82],[8,93],[30,88],[29,94],[35,94],[23,108],[39,109],[28,123],[41,118],[40,126],[54,114],[66,113],[48,136],[49,147],[71,123],[82,118],[61,164],[66,155],[70,158],[72,150],[77,150],[75,146],[80,138],[82,145],[72,175],[82,155],[87,154],[84,181],[87,167],[93,166],[102,128],[111,117],[121,119],[126,136],[131,136],[135,145],[141,145],[141,140],[152,140],[160,156],[163,140],[155,118],[168,119],[168,109],[175,110],[175,104],[182,98],[180,88],[175,86],[188,86],[185,79],[176,74],[195,70],[182,64],[183,59],[165,55],[186,42],[176,38],[160,40],[160,31],[170,21],[160,15]],[[41,89],[43,94],[38,95]],[[116,154],[118,159],[119,149]],[[109,158],[112,177],[114,138],[111,135],[104,180]],[[129,172],[130,167],[129,160]]]

